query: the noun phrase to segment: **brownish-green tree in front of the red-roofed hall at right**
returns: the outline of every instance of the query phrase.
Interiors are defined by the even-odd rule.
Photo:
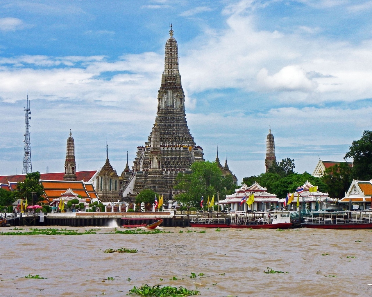
[[[327,185],[328,194],[331,198],[341,199],[353,180],[352,167],[346,162],[335,164],[325,169],[321,180]]]

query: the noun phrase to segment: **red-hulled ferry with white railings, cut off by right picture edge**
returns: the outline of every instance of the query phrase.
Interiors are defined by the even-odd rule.
[[[302,226],[323,229],[371,229],[372,210],[317,211],[304,216]]]

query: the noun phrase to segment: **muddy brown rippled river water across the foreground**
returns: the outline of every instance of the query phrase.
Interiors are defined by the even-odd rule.
[[[0,297],[126,296],[142,284],[197,287],[201,296],[372,296],[368,230],[162,229],[172,233],[0,235]],[[138,253],[103,253],[120,247]],[[288,273],[265,274],[267,266]]]

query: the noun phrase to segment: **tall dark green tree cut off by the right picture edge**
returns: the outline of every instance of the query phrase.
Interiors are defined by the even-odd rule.
[[[363,131],[359,140],[354,140],[344,160],[353,159],[352,176],[356,180],[372,178],[372,131]]]

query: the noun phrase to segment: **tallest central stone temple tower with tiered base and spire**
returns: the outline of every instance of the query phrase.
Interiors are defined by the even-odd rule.
[[[178,68],[178,46],[173,37],[165,45],[164,72],[157,96],[157,115],[144,146],[137,147],[131,172],[123,172],[121,195],[134,197],[143,189],[164,195],[164,202],[177,192],[177,175],[190,173],[195,161],[204,161],[203,149],[196,146],[187,126],[185,95]]]

